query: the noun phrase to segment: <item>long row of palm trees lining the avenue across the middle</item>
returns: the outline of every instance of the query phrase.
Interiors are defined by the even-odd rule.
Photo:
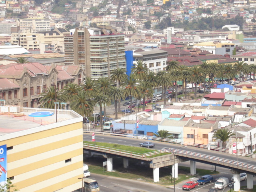
[[[95,105],[100,106],[100,112],[104,107],[106,114],[106,106],[114,103],[116,119],[120,109],[120,101],[130,98],[130,108],[132,109],[132,98],[143,99],[143,110],[145,109],[145,101],[147,98],[153,97],[154,89],[162,88],[164,105],[166,105],[166,90],[169,86],[175,85],[177,90],[177,81],[182,80],[182,89],[185,88],[187,82],[195,82],[196,84],[206,84],[206,77],[214,80],[215,77],[220,79],[232,79],[236,74],[255,73],[256,66],[248,66],[244,62],[236,62],[236,64],[219,65],[214,62],[203,62],[201,65],[187,67],[179,65],[176,61],[167,62],[165,70],[156,74],[150,71],[145,63],[138,61],[132,68],[132,73],[127,76],[126,69],[117,68],[114,70],[110,78],[99,78],[92,80],[86,77],[83,84],[70,83],[63,90],[49,87],[42,93],[42,102],[45,108],[55,108],[54,102],[68,102],[70,108],[81,116],[90,116],[94,112]],[[240,78],[241,79],[241,78]],[[196,87],[195,87],[196,89]],[[177,91],[176,91],[177,93]],[[205,93],[205,86],[204,86]],[[196,90],[195,90],[196,94]],[[177,101],[177,97],[176,97]],[[132,113],[132,110],[130,110]],[[100,124],[102,116],[100,116]]]

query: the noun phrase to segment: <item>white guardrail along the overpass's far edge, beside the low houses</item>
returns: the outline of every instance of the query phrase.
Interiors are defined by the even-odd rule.
[[[92,133],[94,131],[84,130],[84,132],[85,133]],[[231,150],[228,150],[228,149],[225,149],[225,148],[221,148],[221,147],[217,147],[217,146],[208,146],[208,145],[203,145],[203,144],[195,144],[193,142],[177,142],[175,139],[169,139],[169,138],[158,138],[158,137],[155,137],[155,136],[134,135],[134,134],[119,133],[119,132],[105,132],[105,131],[96,131],[95,133],[96,134],[107,134],[107,135],[112,135],[112,136],[122,136],[122,137],[128,137],[128,138],[154,140],[154,141],[159,141],[159,142],[185,145],[185,146],[196,147],[196,148],[201,148],[201,149],[214,150],[216,152],[233,154]],[[255,158],[255,155],[253,155],[253,154],[239,153],[238,152],[238,155],[239,156],[247,156],[247,157],[250,157],[250,158]]]

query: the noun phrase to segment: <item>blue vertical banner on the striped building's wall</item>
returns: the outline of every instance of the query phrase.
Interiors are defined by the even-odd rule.
[[[7,148],[0,146],[0,185],[4,185],[7,180]]]

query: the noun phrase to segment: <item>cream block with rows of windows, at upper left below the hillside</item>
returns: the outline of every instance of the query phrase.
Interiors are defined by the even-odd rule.
[[[50,19],[20,19],[20,30],[30,30],[33,33],[38,31],[50,31]]]

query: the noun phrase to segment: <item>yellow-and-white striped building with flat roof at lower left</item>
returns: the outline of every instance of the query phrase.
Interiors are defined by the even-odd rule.
[[[67,110],[57,112],[56,117],[52,110],[52,116],[32,118],[28,114],[41,109],[23,110],[23,120],[0,116],[0,145],[6,144],[8,149],[7,177],[20,192],[72,192],[81,188],[82,116]],[[3,133],[7,129],[9,132]]]

